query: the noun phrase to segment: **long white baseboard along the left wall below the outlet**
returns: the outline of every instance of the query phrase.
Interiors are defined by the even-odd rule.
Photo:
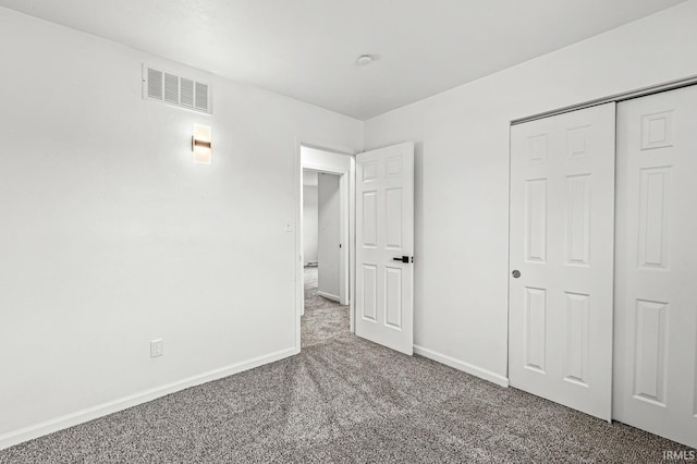
[[[297,354],[297,349],[295,347],[278,351],[269,355],[255,357],[249,361],[232,364],[219,369],[209,370],[207,373],[167,383],[161,387],[156,387],[150,390],[124,396],[119,400],[113,400],[108,403],[99,404],[97,406],[87,407],[85,410],[76,411],[64,416],[56,417],[53,419],[49,419],[36,425],[24,427],[9,434],[0,435],[0,450],[4,450],[5,448],[10,448],[38,437],[42,437],[45,435],[52,434],[68,427],[73,427],[78,424],[96,419],[98,417],[103,417],[106,415],[113,414],[129,407],[137,406],[138,404],[147,403],[148,401],[156,400],[160,396],[164,396],[166,394],[174,393],[189,387],[195,387],[201,383],[231,376],[233,374],[253,369],[265,364],[273,363],[294,354]]]

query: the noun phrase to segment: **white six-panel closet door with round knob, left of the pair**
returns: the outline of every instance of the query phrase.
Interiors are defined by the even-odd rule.
[[[606,420],[614,154],[614,103],[511,129],[511,386]]]

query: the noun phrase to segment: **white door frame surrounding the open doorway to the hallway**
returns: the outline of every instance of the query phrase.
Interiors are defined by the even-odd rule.
[[[330,161],[317,161],[317,162],[303,162],[302,150],[303,148],[313,148],[321,151],[326,151],[330,155],[340,155],[348,157],[348,170],[333,166]],[[314,141],[306,137],[296,137],[295,141],[295,353],[301,352],[301,317],[305,312],[305,279],[304,279],[304,259],[303,259],[303,169],[310,169],[314,171],[326,172],[329,174],[337,174],[341,176],[340,180],[340,203],[341,203],[341,218],[344,222],[344,228],[341,231],[342,237],[346,237],[346,251],[344,252],[343,259],[344,282],[340,284],[345,285],[346,297],[348,298],[348,314],[350,314],[350,330],[355,333],[355,192],[356,192],[356,178],[355,178],[355,155],[359,152],[358,149],[346,147],[343,145],[328,143],[326,141]],[[347,206],[347,207],[346,207]],[[347,228],[347,230],[346,230]],[[342,239],[343,241],[343,239]],[[347,253],[346,253],[347,252]]]

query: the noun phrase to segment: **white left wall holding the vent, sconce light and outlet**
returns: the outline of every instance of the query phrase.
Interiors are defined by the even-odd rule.
[[[1,8],[0,42],[0,448],[294,353],[297,143],[362,122]],[[143,61],[215,114],[143,100]]]

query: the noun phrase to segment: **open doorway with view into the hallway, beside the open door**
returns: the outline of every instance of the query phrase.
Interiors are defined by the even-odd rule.
[[[353,166],[350,155],[299,147],[298,351],[353,331]]]

